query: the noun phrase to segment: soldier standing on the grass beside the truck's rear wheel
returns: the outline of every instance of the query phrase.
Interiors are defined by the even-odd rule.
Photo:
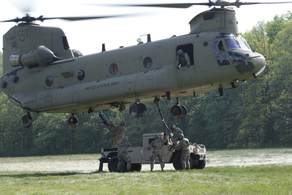
[[[118,172],[120,172],[121,166],[123,161],[127,162],[127,172],[130,171],[131,169],[131,158],[128,155],[128,147],[131,146],[131,143],[128,142],[128,137],[127,136],[123,136],[122,140],[119,141],[118,143],[118,157],[119,157],[119,163],[118,163]]]

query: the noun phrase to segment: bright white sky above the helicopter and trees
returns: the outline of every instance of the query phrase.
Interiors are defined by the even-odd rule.
[[[10,1],[10,0],[9,0]],[[183,35],[190,32],[189,21],[198,13],[209,10],[208,6],[191,6],[190,8],[156,8],[156,7],[129,7],[121,5],[121,1],[108,0],[98,2],[94,0],[2,0],[0,21],[21,18],[29,13],[30,16],[38,17],[71,17],[71,16],[105,16],[124,15],[121,17],[67,21],[61,19],[45,20],[43,26],[60,27],[66,33],[70,49],[77,49],[83,54],[98,53],[105,49],[117,49],[120,46],[138,44],[137,39],[147,42],[147,36],[151,40],[166,39],[173,35]],[[233,0],[229,0],[234,2]],[[242,0],[242,2],[275,2],[276,0]],[[284,2],[287,0],[281,0]],[[291,2],[292,0],[290,0]],[[98,3],[97,3],[98,2]],[[140,0],[139,4],[162,4],[162,3],[208,3],[208,0],[193,1],[163,1],[163,0]],[[99,5],[96,5],[99,4]],[[106,4],[106,5],[102,5]],[[137,1],[124,0],[122,4],[137,4]],[[281,15],[292,11],[290,4],[256,4],[245,5],[240,8],[233,7],[236,12],[239,32],[246,32],[257,24],[273,20],[275,15]],[[14,22],[0,23],[0,34],[4,35],[11,27],[17,25]],[[1,51],[3,39],[0,39]]]

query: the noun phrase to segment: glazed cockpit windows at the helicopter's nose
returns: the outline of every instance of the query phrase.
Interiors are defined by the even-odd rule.
[[[233,35],[228,33],[220,33],[216,36],[212,51],[220,67],[234,65],[236,70],[243,75],[246,75],[255,69],[255,66],[250,59],[243,56],[244,54],[252,53],[246,40],[241,35]]]

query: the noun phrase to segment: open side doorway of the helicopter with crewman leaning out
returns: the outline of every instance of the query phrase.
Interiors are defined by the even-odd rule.
[[[194,45],[186,44],[186,45],[177,46],[176,47],[176,66],[189,67],[190,65],[194,65]]]

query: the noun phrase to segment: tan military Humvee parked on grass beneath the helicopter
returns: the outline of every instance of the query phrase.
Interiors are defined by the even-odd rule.
[[[143,146],[138,147],[129,147],[128,155],[131,158],[131,169],[130,171],[140,171],[142,164],[150,164],[150,157],[153,151],[148,150],[148,146],[154,140],[154,135],[159,134],[160,139],[163,138],[164,133],[147,133],[143,134]],[[167,135],[167,142],[164,143],[164,146],[161,146],[161,151],[163,155],[164,163],[173,163],[175,170],[181,170],[182,165],[180,163],[181,151],[173,150],[172,143],[169,141],[170,137]],[[206,165],[206,147],[200,144],[190,143],[190,168],[191,169],[204,169]],[[117,172],[117,167],[119,163],[118,159],[118,148],[102,148],[101,149],[101,158],[99,159],[100,166],[98,171],[102,171],[103,163],[107,163],[108,170],[110,172]],[[159,163],[158,158],[156,157],[155,163]],[[121,172],[127,170],[126,162],[123,162],[123,165],[120,169]]]

